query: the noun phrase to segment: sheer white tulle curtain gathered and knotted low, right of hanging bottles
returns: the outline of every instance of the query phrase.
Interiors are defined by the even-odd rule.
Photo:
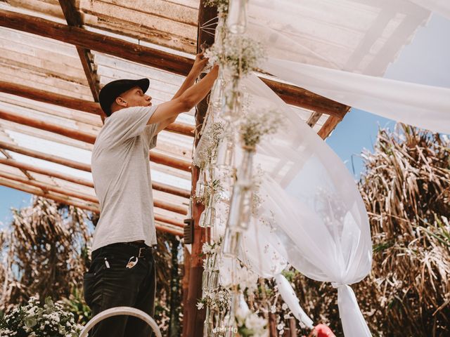
[[[338,294],[344,303],[340,315],[346,336],[371,336],[347,287],[368,275],[372,258],[368,217],[352,176],[297,112],[260,79],[252,75],[243,86],[250,109],[274,107],[285,123],[257,147],[255,173],[260,175],[262,201],[243,236],[240,260],[262,277],[275,277],[293,315],[309,327],[313,322],[281,275],[287,263],[312,279],[342,284],[344,291],[339,287]],[[239,153],[237,157],[239,162]],[[226,204],[217,211],[226,219]],[[222,221],[217,235],[224,225]],[[231,282],[231,270],[231,261],[222,263],[225,284]]]

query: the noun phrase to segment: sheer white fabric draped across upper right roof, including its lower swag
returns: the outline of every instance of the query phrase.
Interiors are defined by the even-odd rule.
[[[248,34],[267,48],[262,68],[280,79],[389,119],[450,133],[449,88],[382,78],[430,10],[449,17],[450,1],[254,0]]]

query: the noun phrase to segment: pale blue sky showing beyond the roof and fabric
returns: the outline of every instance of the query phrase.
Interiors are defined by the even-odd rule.
[[[412,43],[402,49],[385,77],[450,88],[449,37],[450,20],[433,15]],[[363,170],[359,154],[364,148],[373,149],[378,126],[392,128],[394,121],[352,109],[327,140],[356,178]],[[12,219],[11,207],[27,206],[30,199],[30,194],[0,186],[0,222],[8,223]]]

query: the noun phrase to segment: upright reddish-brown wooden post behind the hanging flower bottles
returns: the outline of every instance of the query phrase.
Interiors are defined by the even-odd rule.
[[[200,46],[204,42],[211,46],[214,43],[214,36],[203,32],[202,27],[205,22],[210,22],[217,17],[217,8],[205,8],[205,1],[200,0],[200,8],[198,11],[198,39],[197,52],[200,52]],[[210,26],[214,28],[214,26]],[[196,130],[203,124],[205,114],[207,111],[207,98],[200,102],[196,107],[195,124]],[[196,138],[196,142],[200,138]],[[193,166],[192,169],[192,190],[195,192],[195,185],[197,184],[199,170]],[[186,329],[183,329],[183,336],[202,336],[203,322],[205,321],[205,310],[198,310],[196,304],[202,296],[202,276],[203,276],[203,258],[201,257],[203,243],[206,241],[206,234],[204,228],[198,225],[200,214],[203,212],[204,206],[202,204],[193,204],[192,216],[194,219],[194,241],[191,250],[191,268],[189,272],[189,289],[186,303],[184,303],[187,324]]]

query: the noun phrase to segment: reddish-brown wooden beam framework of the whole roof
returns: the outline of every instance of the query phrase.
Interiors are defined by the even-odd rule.
[[[94,64],[91,55],[91,50],[108,55],[113,55],[124,60],[131,60],[142,65],[154,67],[158,70],[165,70],[167,72],[180,74],[183,76],[186,76],[186,74],[188,74],[188,72],[191,70],[191,67],[193,65],[192,58],[187,58],[177,53],[162,51],[158,48],[141,46],[129,41],[110,37],[107,34],[100,34],[97,32],[92,32],[88,29],[84,29],[82,15],[77,10],[75,2],[73,0],[58,1],[60,7],[63,10],[64,18],[68,23],[67,25],[51,20],[46,20],[44,18],[35,17],[32,15],[17,13],[15,11],[0,10],[0,26],[8,27],[10,29],[15,29],[21,32],[28,32],[57,41],[63,41],[75,46],[77,48],[77,53],[82,63],[84,74],[89,84],[89,88],[91,89],[94,101],[91,102],[88,100],[72,98],[69,96],[51,93],[49,91],[43,91],[24,85],[12,84],[6,81],[0,81],[0,91],[12,95],[18,95],[20,97],[28,98],[31,100],[37,100],[43,103],[49,103],[73,110],[97,114],[102,117],[103,120],[104,114],[101,110],[100,105],[98,104],[99,81],[96,74],[96,65]],[[201,22],[205,20],[205,13],[209,13],[209,11],[203,11],[202,4],[203,1],[200,1],[200,11],[198,17],[200,25]],[[201,29],[199,29],[198,41],[202,39],[205,39],[205,37],[202,37]],[[262,81],[264,81],[265,84],[267,84],[272,90],[274,90],[274,92],[277,93],[285,101],[285,103],[312,110],[311,116],[308,119],[308,124],[310,126],[316,124],[316,122],[323,114],[327,114],[329,117],[318,132],[319,136],[321,136],[322,138],[326,138],[329,133],[333,131],[333,128],[335,128],[339,121],[341,121],[345,114],[349,111],[349,107],[347,107],[346,105],[336,103],[333,100],[329,100],[328,98],[323,98],[320,95],[316,95],[297,86],[281,83],[279,81],[275,81],[274,79],[267,79],[266,77],[260,78],[262,79]],[[31,126],[32,128],[38,128],[40,130],[49,131],[51,133],[57,133],[59,135],[79,140],[84,143],[94,144],[96,139],[96,136],[94,134],[86,131],[67,128],[57,124],[49,123],[48,121],[23,117],[20,114],[14,112],[6,112],[1,109],[0,118],[12,121],[14,123]],[[190,124],[174,123],[168,126],[166,130],[173,133],[180,133],[186,136],[194,136],[195,128]],[[20,166],[20,164],[18,165],[17,162],[15,162],[13,159],[11,159],[11,157],[8,156],[8,152],[6,152],[6,150],[27,155],[29,157],[51,161],[56,164],[63,164],[75,169],[81,169],[82,171],[90,171],[89,165],[78,163],[76,161],[70,161],[68,159],[53,156],[50,154],[45,154],[43,152],[24,149],[23,147],[18,147],[17,145],[4,142],[0,142],[0,149],[1,152],[7,156],[7,159],[1,159],[1,163],[18,167],[18,169],[23,171],[23,173],[25,173],[25,175],[29,178],[28,180],[26,180],[25,178],[18,177],[17,179],[20,180],[13,181],[13,177],[11,175],[8,176],[8,173],[5,173],[3,176],[1,176],[1,184],[4,185],[4,183],[6,182],[9,185],[15,185],[17,187],[20,187],[18,189],[24,190],[25,187],[23,187],[23,184],[28,183],[30,185],[29,190],[38,189],[40,191],[41,194],[33,192],[37,195],[45,194],[47,197],[50,197],[50,199],[52,199],[52,197],[53,199],[65,199],[68,203],[71,204],[80,204],[76,199],[89,201],[95,204],[96,199],[93,197],[84,196],[82,194],[74,192],[68,192],[68,194],[70,195],[63,195],[63,190],[58,189],[58,187],[52,187],[48,184],[32,181],[30,178],[30,174],[27,173],[27,169],[29,171],[34,171],[37,168],[33,166],[26,166],[25,164],[23,166]],[[175,169],[180,169],[187,172],[191,172],[192,170],[191,162],[184,159],[174,158],[171,156],[167,156],[166,154],[160,154],[157,152],[152,152],[149,157],[150,161],[158,164],[171,166]],[[37,170],[39,171],[39,169]],[[41,171],[41,173],[48,173],[48,176],[52,176],[53,174],[51,172],[44,171]],[[58,178],[66,180],[70,179],[70,177],[65,175],[61,175]],[[86,185],[86,183],[81,180],[75,181],[72,179],[72,183]],[[153,188],[155,190],[174,194],[179,197],[190,197],[189,191],[181,190],[179,188],[165,184],[153,183]],[[158,201],[155,202],[155,207],[162,206],[163,209],[169,209],[170,211],[176,211],[177,213],[186,214],[186,210],[181,207],[175,205],[167,205],[164,203],[157,206],[157,204]],[[83,206],[83,204],[80,205]],[[94,206],[87,205],[87,207],[91,208],[91,210],[95,209]],[[170,225],[175,226],[179,225],[179,223],[173,223],[173,220],[171,224],[169,220],[170,219],[159,219],[158,221],[160,221],[160,223],[169,223]],[[178,234],[180,234],[180,232],[178,232]]]

